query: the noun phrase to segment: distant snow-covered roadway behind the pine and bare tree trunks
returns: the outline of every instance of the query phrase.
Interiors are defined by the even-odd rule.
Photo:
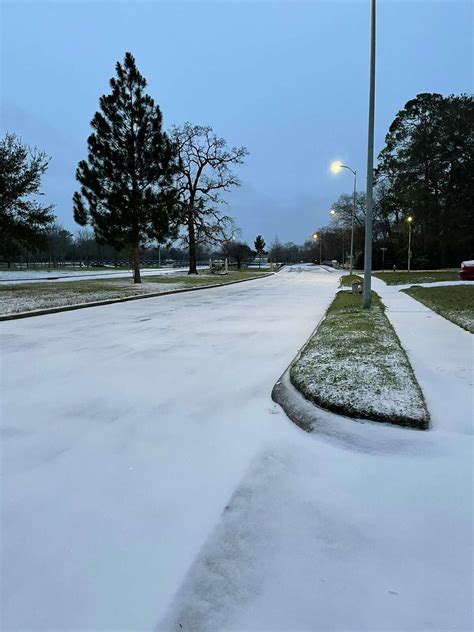
[[[199,266],[199,270],[204,269],[204,266]],[[141,276],[159,276],[161,274],[183,274],[187,272],[188,268],[144,268],[141,270]],[[114,272],[113,268],[108,270],[98,270],[97,272],[91,272],[90,270],[62,270],[48,272],[47,270],[22,270],[12,272],[0,272],[0,283],[34,283],[37,281],[80,281],[81,279],[124,279],[131,278],[132,272],[130,270]]]

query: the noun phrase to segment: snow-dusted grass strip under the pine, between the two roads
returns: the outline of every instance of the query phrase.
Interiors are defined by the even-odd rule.
[[[226,275],[157,275],[143,277],[140,284],[134,284],[131,279],[0,284],[0,314],[17,314],[129,296],[145,296],[160,291],[192,289],[204,285],[224,285],[232,281],[267,276],[267,274],[255,270],[235,270]]]

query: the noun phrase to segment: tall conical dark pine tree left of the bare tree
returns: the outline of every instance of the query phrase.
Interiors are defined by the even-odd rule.
[[[131,53],[117,62],[111,93],[100,98],[88,158],[79,162],[74,219],[90,223],[100,243],[128,249],[134,282],[140,283],[140,248],[173,236],[178,214],[174,144],[162,131],[159,106]]]

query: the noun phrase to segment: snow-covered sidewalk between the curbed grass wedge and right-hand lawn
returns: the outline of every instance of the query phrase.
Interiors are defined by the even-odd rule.
[[[435,285],[441,284],[426,284]],[[471,434],[474,336],[401,292],[400,286],[373,277],[372,287],[387,307],[386,314],[410,358],[432,427]]]

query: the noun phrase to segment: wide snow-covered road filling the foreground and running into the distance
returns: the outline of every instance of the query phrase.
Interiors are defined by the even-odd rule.
[[[470,629],[465,409],[361,449],[271,402],[337,281],[2,323],[4,629]]]

